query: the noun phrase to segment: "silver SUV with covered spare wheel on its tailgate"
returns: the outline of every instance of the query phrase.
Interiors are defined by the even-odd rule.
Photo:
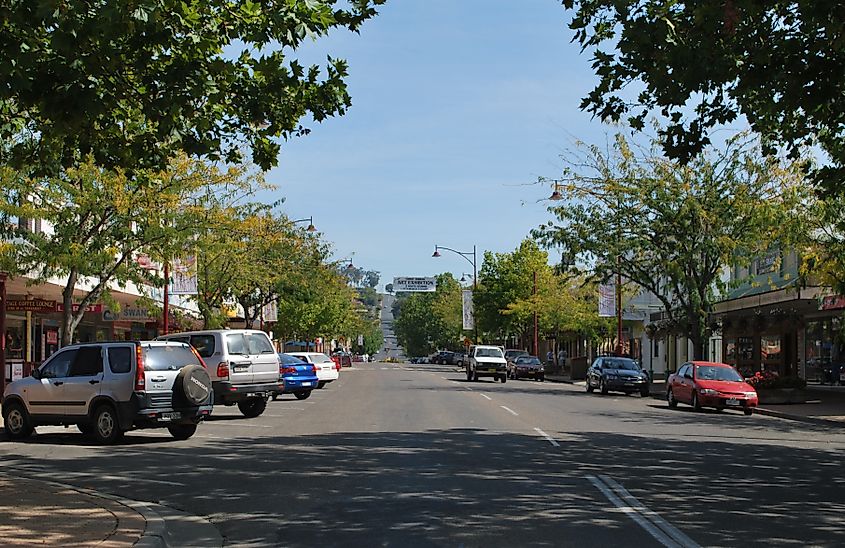
[[[211,414],[211,379],[189,345],[159,341],[75,344],[6,387],[3,420],[12,439],[40,425],[75,424],[99,443],[133,428],[164,428],[180,440]]]

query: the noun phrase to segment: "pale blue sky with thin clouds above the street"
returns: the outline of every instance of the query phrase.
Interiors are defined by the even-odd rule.
[[[390,0],[360,34],[296,56],[349,62],[352,107],[307,124],[267,173],[292,219],[313,217],[334,259],[395,276],[460,278],[458,251],[510,252],[551,219],[560,154],[613,128],[578,107],[596,77],[559,0]],[[552,260],[555,259],[552,252]]]

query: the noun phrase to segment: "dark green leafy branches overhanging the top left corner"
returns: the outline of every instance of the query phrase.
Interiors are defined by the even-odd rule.
[[[290,52],[357,32],[384,1],[6,2],[0,163],[163,169],[178,152],[238,163],[245,146],[267,170],[303,118],[351,104],[343,60],[306,68]]]

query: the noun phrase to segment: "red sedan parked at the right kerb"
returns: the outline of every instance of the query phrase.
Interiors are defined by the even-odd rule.
[[[757,407],[757,391],[728,364],[688,362],[669,376],[666,400],[669,407],[677,407],[680,402],[696,411],[702,407],[735,408],[750,415]]]

